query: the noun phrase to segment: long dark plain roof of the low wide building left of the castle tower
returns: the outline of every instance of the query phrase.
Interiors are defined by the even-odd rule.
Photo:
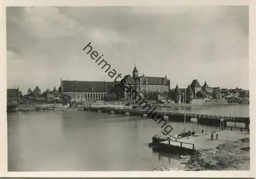
[[[62,81],[62,92],[108,92],[114,87],[114,82],[96,81]]]

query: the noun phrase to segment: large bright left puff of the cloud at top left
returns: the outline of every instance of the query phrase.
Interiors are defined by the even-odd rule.
[[[73,35],[83,28],[76,20],[59,13],[55,7],[26,7],[21,28],[39,38],[56,38]]]

